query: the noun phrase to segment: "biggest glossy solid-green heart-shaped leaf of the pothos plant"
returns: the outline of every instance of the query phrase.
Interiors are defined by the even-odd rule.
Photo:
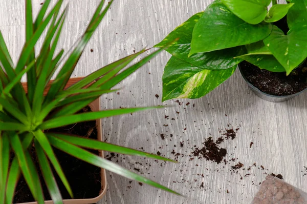
[[[205,10],[193,30],[191,52],[210,52],[255,43],[266,38],[271,24],[251,25],[230,12],[220,1]]]

